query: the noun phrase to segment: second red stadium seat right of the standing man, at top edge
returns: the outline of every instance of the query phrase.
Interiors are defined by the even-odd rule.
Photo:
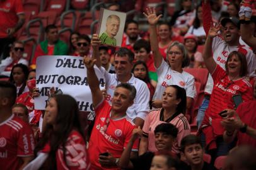
[[[45,11],[54,11],[57,16],[66,9],[66,0],[48,0],[45,6]]]

